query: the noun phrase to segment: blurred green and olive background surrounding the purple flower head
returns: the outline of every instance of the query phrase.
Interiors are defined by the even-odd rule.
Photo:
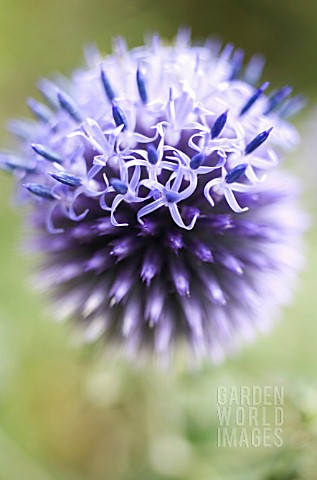
[[[0,175],[0,480],[316,480],[317,478],[317,2],[316,0],[0,0],[0,124],[27,115],[38,77],[68,74],[90,41],[172,39],[189,25],[267,58],[265,78],[293,85],[308,107],[289,166],[310,212],[307,266],[274,332],[225,364],[195,372],[133,369],[70,341],[29,288],[19,252],[23,211]],[[282,448],[219,448],[220,385],[283,385]]]

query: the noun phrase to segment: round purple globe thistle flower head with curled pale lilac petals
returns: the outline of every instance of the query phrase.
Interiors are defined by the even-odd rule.
[[[41,284],[86,338],[169,356],[178,341],[219,360],[267,330],[300,266],[298,100],[267,94],[262,60],[231,45],[123,40],[70,80],[39,82],[34,121],[10,124],[2,166],[31,202]]]

